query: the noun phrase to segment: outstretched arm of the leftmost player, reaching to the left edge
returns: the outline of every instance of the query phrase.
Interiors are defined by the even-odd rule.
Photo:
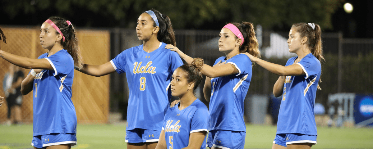
[[[4,60],[9,61],[10,63],[25,68],[25,69],[45,69],[53,70],[53,67],[49,61],[45,58],[33,59],[28,57],[17,56],[14,54],[7,53],[3,50],[0,50],[0,57]]]

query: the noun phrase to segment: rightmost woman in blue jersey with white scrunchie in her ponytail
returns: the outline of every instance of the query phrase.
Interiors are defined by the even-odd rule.
[[[316,144],[314,116],[316,90],[323,57],[321,28],[314,23],[295,23],[289,32],[289,52],[297,54],[285,66],[269,63],[247,54],[251,61],[279,75],[273,86],[282,95],[273,149],[309,149]],[[321,81],[320,81],[321,82]]]

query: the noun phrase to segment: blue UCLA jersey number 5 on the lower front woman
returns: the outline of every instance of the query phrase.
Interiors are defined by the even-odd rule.
[[[180,104],[180,103],[179,103]],[[164,115],[163,127],[167,149],[181,149],[188,146],[189,134],[209,131],[210,114],[206,105],[196,99],[191,105],[179,110],[179,104],[169,108]],[[206,137],[201,149],[206,149]]]

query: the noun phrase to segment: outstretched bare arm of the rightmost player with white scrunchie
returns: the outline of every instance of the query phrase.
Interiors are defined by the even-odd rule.
[[[302,67],[298,64],[292,64],[289,66],[282,66],[279,64],[270,63],[268,61],[262,60],[260,58],[254,57],[249,53],[244,53],[247,55],[253,63],[257,63],[264,69],[268,70],[271,73],[274,73],[279,76],[300,76],[305,75]]]

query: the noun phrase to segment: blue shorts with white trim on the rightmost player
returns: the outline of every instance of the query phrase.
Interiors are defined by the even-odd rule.
[[[313,143],[316,144],[317,135],[306,135],[301,133],[282,133],[276,134],[273,143],[285,146],[294,143]]]

